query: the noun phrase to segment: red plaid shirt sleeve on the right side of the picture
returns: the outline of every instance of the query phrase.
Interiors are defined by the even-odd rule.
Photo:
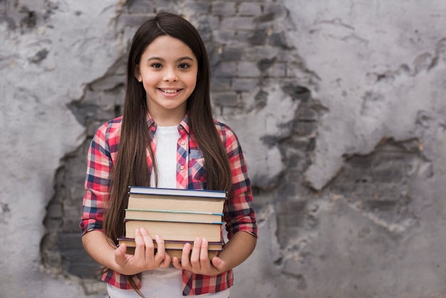
[[[257,237],[256,216],[252,207],[253,197],[247,165],[237,135],[229,128],[225,130],[225,146],[232,173],[232,192],[224,205],[223,216],[227,237],[231,239],[232,235],[238,231],[249,232]]]

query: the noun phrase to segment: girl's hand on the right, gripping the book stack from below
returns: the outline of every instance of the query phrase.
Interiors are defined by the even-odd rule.
[[[209,260],[208,246],[207,240],[197,238],[194,242],[192,254],[190,254],[190,244],[186,243],[182,249],[181,262],[177,257],[174,257],[172,264],[177,269],[186,269],[195,274],[217,275],[227,271],[224,260],[219,257],[213,257],[212,260]]]

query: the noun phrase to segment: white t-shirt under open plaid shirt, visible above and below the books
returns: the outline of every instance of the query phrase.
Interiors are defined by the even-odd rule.
[[[157,187],[177,188],[177,142],[180,138],[178,126],[157,126],[155,132],[158,185]],[[150,185],[155,185],[152,175]],[[182,298],[182,270],[175,267],[160,268],[142,272],[140,291],[145,298]],[[107,284],[111,298],[141,298],[133,289],[118,289]],[[228,298],[229,289],[195,297]]]

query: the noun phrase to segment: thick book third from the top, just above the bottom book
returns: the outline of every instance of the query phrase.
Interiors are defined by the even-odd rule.
[[[223,222],[171,222],[167,220],[125,220],[125,237],[135,238],[135,229],[145,227],[150,237],[160,235],[163,240],[193,241],[206,238],[209,242],[221,241]]]

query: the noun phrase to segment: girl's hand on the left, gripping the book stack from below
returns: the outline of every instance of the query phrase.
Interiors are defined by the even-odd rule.
[[[166,268],[169,266],[171,258],[165,252],[164,240],[158,235],[155,236],[157,242],[157,252],[155,245],[145,228],[135,230],[135,255],[128,255],[126,245],[120,245],[115,250],[115,262],[120,267],[117,271],[120,274],[133,275],[145,270]]]

